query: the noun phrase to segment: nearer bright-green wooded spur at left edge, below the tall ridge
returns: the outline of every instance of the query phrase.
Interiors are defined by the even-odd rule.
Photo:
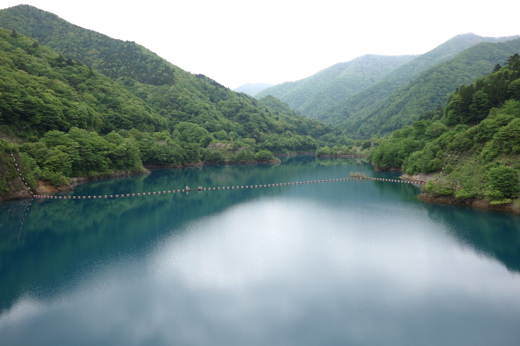
[[[77,60],[5,29],[0,29],[0,47],[4,130],[37,139],[71,127],[101,133],[166,129],[166,119],[143,100]]]

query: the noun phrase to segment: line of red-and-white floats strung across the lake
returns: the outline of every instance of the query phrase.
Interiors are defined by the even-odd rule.
[[[278,184],[260,184],[260,185],[241,185],[241,186],[222,186],[222,187],[202,187],[199,186],[197,188],[190,188],[186,186],[184,189],[177,190],[164,190],[164,191],[153,191],[153,192],[135,192],[135,193],[121,193],[120,195],[97,195],[97,196],[45,196],[45,195],[36,195],[33,193],[31,188],[27,183],[25,183],[25,179],[22,177],[18,165],[16,164],[15,157],[11,154],[15,167],[22,179],[23,183],[29,191],[31,192],[33,198],[43,198],[43,199],[103,199],[103,198],[122,198],[122,197],[141,197],[141,196],[153,196],[153,195],[166,195],[168,193],[180,193],[180,192],[191,192],[191,191],[218,191],[218,190],[233,190],[233,189],[254,189],[254,188],[263,188],[263,187],[280,187],[280,186],[292,186],[292,185],[303,185],[303,184],[315,184],[315,183],[331,183],[331,182],[346,182],[353,180],[374,180],[374,181],[382,181],[382,182],[392,182],[392,183],[402,183],[402,184],[414,184],[414,185],[424,185],[422,182],[410,182],[398,179],[385,179],[385,178],[372,178],[372,177],[356,177],[356,178],[340,178],[340,179],[327,179],[327,180],[314,180],[307,182],[294,182],[294,183],[278,183]]]

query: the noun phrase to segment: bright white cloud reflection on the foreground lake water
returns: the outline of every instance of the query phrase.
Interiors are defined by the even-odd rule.
[[[518,340],[511,323],[520,318],[520,275],[457,245],[420,210],[404,218],[398,209],[390,217],[333,208],[283,199],[236,205],[73,292],[21,299],[0,317],[0,335],[7,344],[42,335],[129,345]],[[316,218],[316,210],[334,217]],[[24,334],[33,326],[36,334]]]

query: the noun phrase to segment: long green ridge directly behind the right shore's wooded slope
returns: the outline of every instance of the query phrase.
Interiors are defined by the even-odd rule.
[[[388,134],[419,119],[422,113],[446,104],[456,87],[489,74],[497,64],[520,51],[520,38],[503,43],[479,43],[456,57],[439,63],[415,77],[385,100],[367,106],[340,127],[354,136]]]

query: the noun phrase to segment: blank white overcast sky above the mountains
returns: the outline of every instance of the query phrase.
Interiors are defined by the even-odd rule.
[[[2,0],[0,8],[23,0]],[[27,1],[27,0],[26,0]],[[302,79],[363,54],[421,54],[458,34],[520,34],[520,2],[30,0],[73,24],[136,41],[229,88]]]

